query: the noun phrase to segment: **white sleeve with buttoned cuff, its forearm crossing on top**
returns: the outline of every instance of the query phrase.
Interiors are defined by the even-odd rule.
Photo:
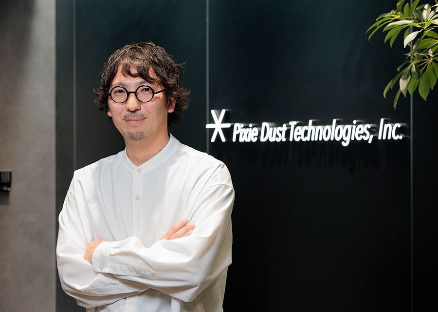
[[[102,242],[94,250],[93,269],[193,301],[231,264],[235,193],[229,179],[229,183],[207,185],[195,196],[187,215],[196,225],[192,234],[161,239],[148,248],[135,236]]]

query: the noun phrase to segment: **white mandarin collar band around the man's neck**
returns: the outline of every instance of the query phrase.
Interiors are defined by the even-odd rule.
[[[170,139],[167,142],[167,144],[164,146],[164,148],[157,155],[153,156],[152,158],[150,158],[140,166],[136,166],[132,163],[132,161],[128,157],[128,154],[126,153],[126,147],[125,147],[125,150],[123,151],[123,164],[125,165],[126,169],[128,169],[128,171],[133,176],[138,176],[163,164],[176,152],[176,150],[181,144],[180,141],[178,141],[170,133],[169,136]]]

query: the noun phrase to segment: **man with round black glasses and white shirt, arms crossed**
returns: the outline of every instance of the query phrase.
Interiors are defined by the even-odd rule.
[[[222,311],[234,189],[222,162],[168,133],[188,106],[181,73],[152,42],[104,65],[95,101],[126,149],[74,172],[56,247],[87,312]]]

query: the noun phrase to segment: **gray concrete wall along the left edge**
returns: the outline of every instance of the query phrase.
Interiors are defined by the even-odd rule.
[[[55,311],[55,0],[0,10],[0,311]]]

